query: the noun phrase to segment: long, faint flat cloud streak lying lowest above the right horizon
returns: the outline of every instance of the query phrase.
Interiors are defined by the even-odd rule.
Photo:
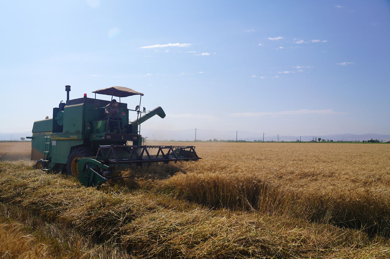
[[[282,116],[282,115],[303,115],[303,114],[321,114],[321,115],[335,115],[346,114],[345,112],[335,112],[329,110],[285,110],[281,112],[236,112],[230,114],[232,117],[262,117],[262,116]]]

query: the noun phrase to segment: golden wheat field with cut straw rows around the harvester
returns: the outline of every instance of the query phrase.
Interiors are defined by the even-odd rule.
[[[46,258],[390,257],[390,145],[193,145],[198,162],[127,169],[100,189],[0,161],[0,228]],[[0,160],[30,147],[0,143]]]

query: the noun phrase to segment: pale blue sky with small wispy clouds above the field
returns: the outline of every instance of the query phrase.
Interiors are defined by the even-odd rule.
[[[390,133],[389,1],[0,1],[0,22],[1,132],[71,85],[144,93],[156,131]]]

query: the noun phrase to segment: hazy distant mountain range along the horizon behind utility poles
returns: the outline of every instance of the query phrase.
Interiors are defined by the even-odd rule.
[[[143,137],[147,137],[149,140],[195,140],[195,129],[186,130],[161,130],[161,129],[141,129]],[[2,133],[0,132],[0,140],[20,140],[21,137],[25,138],[32,136],[30,131],[18,132],[18,133]],[[236,140],[236,131],[216,131],[208,129],[197,129],[197,140]],[[263,140],[263,135],[259,133],[253,133],[248,131],[238,131],[238,140],[246,141],[258,141]],[[332,135],[307,135],[307,136],[286,136],[279,135],[279,141],[310,141],[314,139],[324,139],[333,141],[362,141],[378,139],[380,141],[390,141],[390,135],[367,133],[362,135],[356,134],[332,134]],[[264,141],[277,141],[278,135],[264,134]]]

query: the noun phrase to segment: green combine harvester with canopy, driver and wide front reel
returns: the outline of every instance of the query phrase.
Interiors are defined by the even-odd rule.
[[[197,161],[194,146],[142,145],[140,124],[154,115],[165,117],[161,107],[147,112],[140,110],[143,93],[127,87],[113,86],[93,91],[95,98],[69,100],[70,86],[65,86],[66,103],[53,108],[53,117],[35,121],[32,128],[31,160],[42,170],[62,171],[78,177],[85,186],[99,186],[111,179],[119,179],[117,168],[122,165],[147,166],[170,161]],[[119,102],[96,99],[96,94],[119,97]],[[140,96],[134,110],[121,103],[121,97]],[[113,99],[112,99],[113,100]],[[115,114],[106,114],[106,106],[113,105]],[[129,112],[137,119],[129,121]],[[142,115],[143,114],[143,115]],[[127,145],[127,142],[133,145]]]

